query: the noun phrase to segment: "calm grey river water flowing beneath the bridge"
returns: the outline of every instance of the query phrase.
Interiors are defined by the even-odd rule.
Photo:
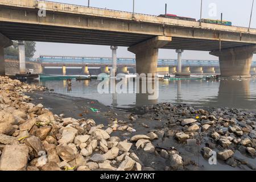
[[[238,109],[256,109],[256,79],[221,79],[207,80],[172,80],[159,81],[155,92],[159,97],[148,100],[148,94],[139,94],[135,86],[127,90],[133,93],[98,93],[100,81],[72,80],[68,86],[67,80],[42,80],[40,85],[54,89],[54,92],[74,97],[84,97],[98,100],[104,105],[129,108],[158,102],[184,103],[201,107],[233,107]]]

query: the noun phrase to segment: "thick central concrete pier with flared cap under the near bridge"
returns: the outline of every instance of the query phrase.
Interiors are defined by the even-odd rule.
[[[141,73],[157,73],[158,66],[158,49],[162,48],[172,38],[168,36],[156,36],[155,38],[146,40],[142,43],[136,44],[128,48],[128,51],[135,53],[136,55],[136,72]]]

